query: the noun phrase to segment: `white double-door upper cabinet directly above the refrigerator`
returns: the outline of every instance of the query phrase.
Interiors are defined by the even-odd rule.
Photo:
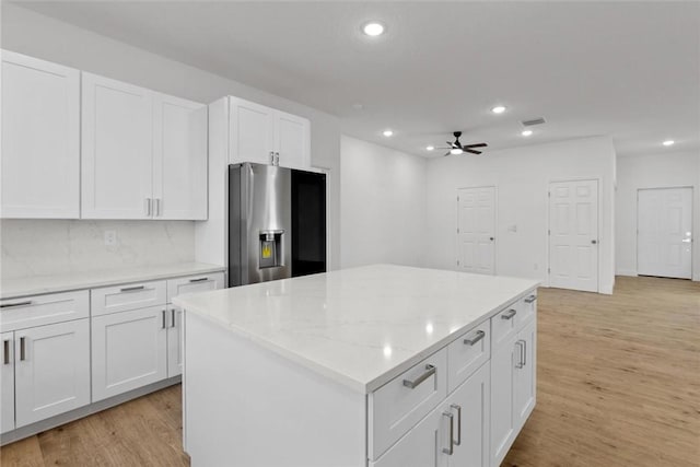
[[[308,119],[260,104],[230,97],[229,162],[272,163],[284,167],[311,165]]]

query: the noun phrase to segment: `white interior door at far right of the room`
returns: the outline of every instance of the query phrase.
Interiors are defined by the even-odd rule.
[[[637,273],[690,279],[692,188],[640,189]]]

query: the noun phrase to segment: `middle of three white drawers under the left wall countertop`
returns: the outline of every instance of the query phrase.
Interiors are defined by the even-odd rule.
[[[91,291],[92,315],[165,305],[165,281],[105,287]]]

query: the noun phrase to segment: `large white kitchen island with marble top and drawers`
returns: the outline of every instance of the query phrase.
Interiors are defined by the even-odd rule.
[[[493,466],[535,406],[527,279],[377,265],[194,295],[192,466]]]

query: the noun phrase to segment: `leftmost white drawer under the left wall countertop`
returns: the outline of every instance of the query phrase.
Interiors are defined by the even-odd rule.
[[[90,316],[86,290],[25,296],[0,302],[2,331],[44,326]]]

